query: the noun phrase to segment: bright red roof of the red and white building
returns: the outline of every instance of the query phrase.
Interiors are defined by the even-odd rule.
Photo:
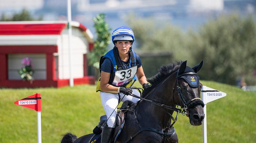
[[[0,23],[0,35],[56,35],[66,26],[67,23]],[[86,30],[81,24],[78,28]]]

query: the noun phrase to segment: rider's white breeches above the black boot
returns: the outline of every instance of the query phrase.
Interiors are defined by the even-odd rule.
[[[140,93],[139,93],[138,90],[136,90],[136,89],[132,89],[132,90],[133,90],[132,94],[140,96]],[[107,93],[107,92],[100,92],[100,95],[101,95],[101,103],[102,103],[102,106],[103,106],[103,108],[105,110],[107,118],[115,110],[113,112],[113,114],[109,117],[109,119],[107,120],[108,127],[114,128],[115,125],[116,125],[116,114],[117,114],[116,106],[118,105],[118,94],[112,94],[112,93]],[[121,96],[121,99],[122,99],[124,97],[124,94],[120,93],[120,96]],[[132,97],[132,96],[129,96],[129,95],[128,96],[125,95],[125,97],[121,101],[124,102],[126,100],[130,100],[130,101],[136,103],[140,99]]]

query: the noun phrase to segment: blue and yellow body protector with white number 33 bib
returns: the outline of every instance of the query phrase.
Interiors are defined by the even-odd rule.
[[[118,55],[118,49],[116,47],[101,57],[100,69],[101,64],[105,59],[109,59],[112,63],[112,71],[110,73],[108,84],[116,87],[129,87],[131,85],[132,79],[138,70],[138,65],[136,65],[136,53],[133,50],[129,53],[129,64],[126,68],[122,66],[121,59]],[[100,87],[100,80],[101,77],[97,83],[96,92],[102,91]]]

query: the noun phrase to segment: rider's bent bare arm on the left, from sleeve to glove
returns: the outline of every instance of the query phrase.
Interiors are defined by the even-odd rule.
[[[101,71],[101,89],[106,92],[117,92],[117,88],[108,84],[110,73]]]

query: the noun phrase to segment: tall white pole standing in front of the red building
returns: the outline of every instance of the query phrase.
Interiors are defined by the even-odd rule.
[[[72,73],[72,56],[71,56],[71,35],[72,35],[72,27],[71,27],[71,1],[68,2],[68,46],[69,46],[69,86],[74,86],[73,73]]]

